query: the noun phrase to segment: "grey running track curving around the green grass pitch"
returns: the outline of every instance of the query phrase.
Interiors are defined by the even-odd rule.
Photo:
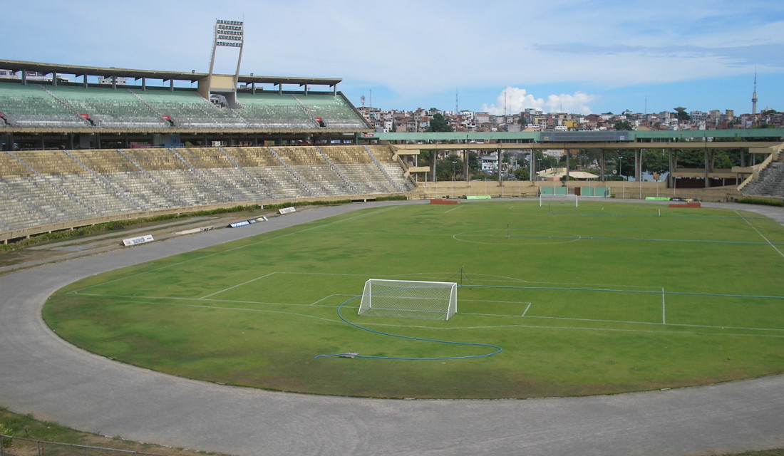
[[[784,375],[529,400],[308,396],[121,364],[71,346],[41,319],[47,297],[82,277],[372,204],[315,208],[237,230],[174,237],[0,276],[0,405],[106,436],[238,456],[653,456],[784,447]],[[760,212],[784,223],[784,208],[706,205]],[[771,273],[782,265],[784,257],[771,265]]]

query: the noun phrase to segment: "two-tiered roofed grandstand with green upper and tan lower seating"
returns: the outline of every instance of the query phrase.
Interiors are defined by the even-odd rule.
[[[356,145],[372,128],[337,91],[339,79],[0,67],[20,74],[0,79],[3,242],[197,208],[364,201],[416,186],[390,147]],[[33,72],[53,77],[27,80]],[[147,84],[154,79],[169,85]]]

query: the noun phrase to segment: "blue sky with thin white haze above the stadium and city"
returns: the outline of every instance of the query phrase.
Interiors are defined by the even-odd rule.
[[[756,69],[784,110],[781,0],[0,2],[11,60],[206,72],[215,20],[243,20],[242,74],[342,78],[356,106],[740,114]]]

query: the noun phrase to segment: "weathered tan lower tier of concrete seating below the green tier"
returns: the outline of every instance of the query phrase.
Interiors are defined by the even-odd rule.
[[[0,152],[0,233],[172,208],[402,193],[389,147]]]

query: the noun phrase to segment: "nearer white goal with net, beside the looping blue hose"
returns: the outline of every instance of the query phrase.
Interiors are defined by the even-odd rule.
[[[359,305],[359,315],[369,317],[449,320],[455,313],[455,282],[369,279]]]

